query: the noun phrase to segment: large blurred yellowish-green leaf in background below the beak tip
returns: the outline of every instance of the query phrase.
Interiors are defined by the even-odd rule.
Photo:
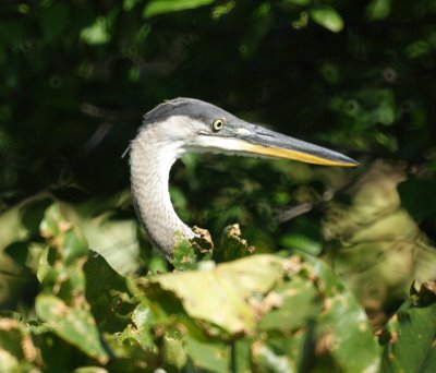
[[[351,205],[334,204],[323,227],[325,258],[378,326],[413,279],[436,278],[436,249],[401,206],[398,186],[405,178],[401,168],[372,165],[353,186]]]

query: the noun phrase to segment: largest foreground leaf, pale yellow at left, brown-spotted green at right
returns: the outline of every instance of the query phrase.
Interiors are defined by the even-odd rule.
[[[350,373],[377,371],[380,349],[364,311],[331,268],[304,257],[301,262],[299,256],[254,255],[214,269],[153,276],[143,294],[152,304],[179,300],[208,335],[263,335],[253,353],[268,370],[282,366],[292,372],[294,361],[313,359],[304,347],[307,340],[320,346],[325,359],[319,364],[328,361]],[[289,342],[279,342],[281,335]],[[355,350],[359,356],[349,359]]]

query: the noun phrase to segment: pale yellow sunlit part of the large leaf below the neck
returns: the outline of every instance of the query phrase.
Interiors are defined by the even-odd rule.
[[[281,278],[283,266],[284,261],[276,256],[256,255],[211,270],[154,276],[152,282],[174,292],[192,317],[208,321],[229,333],[241,333],[256,326],[256,311],[246,303],[246,298],[253,292],[268,291]]]

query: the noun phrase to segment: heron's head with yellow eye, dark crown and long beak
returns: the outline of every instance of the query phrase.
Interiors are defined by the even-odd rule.
[[[221,108],[193,98],[166,101],[144,118],[161,137],[183,151],[300,160],[326,166],[356,166],[340,153],[245,122]]]

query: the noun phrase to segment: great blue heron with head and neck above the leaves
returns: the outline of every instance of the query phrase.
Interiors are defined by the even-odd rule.
[[[175,214],[168,190],[171,166],[184,153],[294,159],[316,165],[356,166],[327,148],[247,123],[211,104],[175,98],[144,117],[130,146],[134,204],[152,243],[167,257],[179,238],[195,233]]]

